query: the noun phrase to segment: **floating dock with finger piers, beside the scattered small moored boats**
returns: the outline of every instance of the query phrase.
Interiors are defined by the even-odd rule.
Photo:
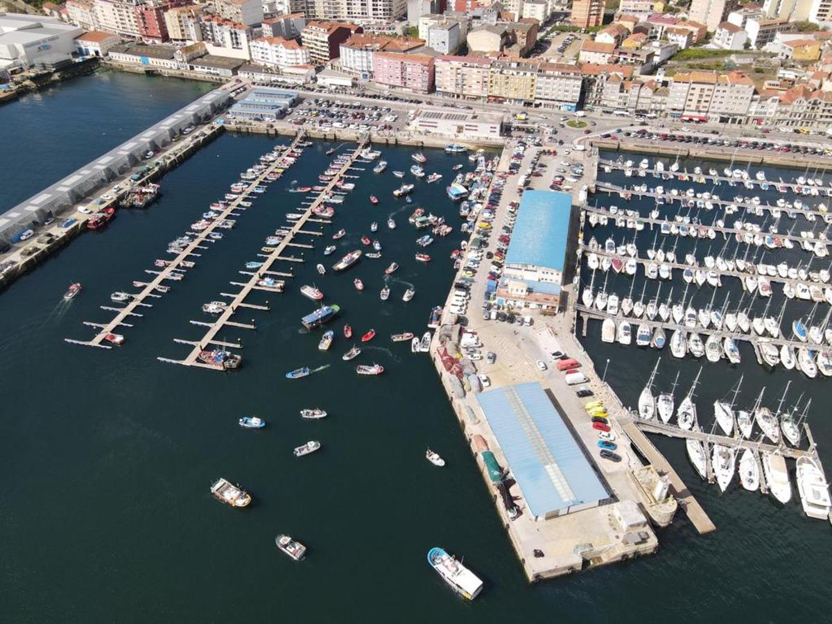
[[[212,369],[212,370],[223,370],[222,366],[217,366],[213,364],[206,364],[199,359],[200,353],[202,350],[206,349],[209,344],[220,344],[216,339],[216,334],[218,334],[224,327],[237,327],[241,329],[256,329],[255,324],[252,322],[250,324],[247,323],[238,323],[234,320],[231,320],[231,317],[237,310],[240,308],[265,308],[266,306],[255,306],[249,305],[245,303],[245,298],[251,294],[252,290],[272,290],[278,291],[273,289],[267,289],[264,286],[258,285],[258,282],[264,279],[267,275],[275,275],[275,271],[271,271],[271,265],[275,262],[280,260],[291,261],[291,262],[303,262],[302,258],[297,258],[295,256],[284,256],[282,255],[286,248],[291,245],[292,240],[294,237],[300,233],[305,233],[303,230],[303,226],[307,221],[311,221],[311,215],[314,214],[314,210],[324,203],[324,200],[329,192],[331,192],[338,181],[341,179],[341,176],[344,175],[344,172],[349,169],[349,166],[353,163],[353,161],[358,158],[359,154],[364,150],[367,141],[361,141],[359,146],[355,149],[352,156],[349,158],[349,161],[344,163],[344,166],[341,167],[339,172],[333,176],[332,181],[329,181],[329,184],[324,187],[323,191],[320,191],[318,194],[317,199],[306,208],[303,216],[300,219],[295,220],[291,225],[291,230],[288,235],[285,236],[283,240],[280,241],[278,245],[275,245],[275,250],[272,251],[266,258],[263,260],[263,264],[256,271],[240,271],[245,275],[250,275],[250,280],[245,283],[241,282],[231,282],[233,285],[239,285],[240,291],[233,295],[233,299],[230,301],[228,305],[225,306],[225,310],[223,310],[219,317],[210,323],[199,323],[201,325],[206,325],[208,329],[206,333],[202,336],[201,339],[193,341],[193,349],[191,349],[191,353],[187,354],[184,359],[175,360],[170,358],[157,358],[161,362],[167,362],[170,364],[184,364],[186,366],[199,366],[205,369]],[[319,233],[320,234],[320,233]],[[278,275],[291,275],[280,273]],[[194,321],[191,321],[194,323]]]

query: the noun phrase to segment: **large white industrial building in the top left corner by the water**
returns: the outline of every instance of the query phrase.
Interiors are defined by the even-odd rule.
[[[71,62],[75,38],[83,33],[54,17],[0,12],[0,69]]]

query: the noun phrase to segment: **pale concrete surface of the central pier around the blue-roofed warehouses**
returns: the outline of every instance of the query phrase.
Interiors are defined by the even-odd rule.
[[[543,146],[543,148],[546,147]],[[509,143],[503,151],[503,158],[498,171],[506,170],[512,150],[513,144]],[[521,171],[527,168],[535,152],[534,149],[527,150],[521,165]],[[585,170],[591,170],[591,161],[595,156],[592,151],[575,152],[572,160],[577,158],[590,161],[585,166]],[[554,169],[552,166],[553,157],[542,156],[542,162],[547,162],[547,171],[550,174],[553,173],[552,170]],[[559,160],[561,157],[557,156],[557,159]],[[587,175],[592,175],[592,173]],[[532,176],[530,178],[532,188],[534,186],[546,188],[548,186],[547,177]],[[581,182],[579,181],[577,184]],[[518,198],[516,179],[508,178],[497,209],[495,224],[502,222],[507,212],[508,203],[516,201]],[[493,243],[493,245],[496,245],[496,243]],[[474,306],[483,300],[484,291],[485,280],[483,276],[475,280],[472,286],[471,301]],[[571,299],[571,287],[567,287],[567,300]],[[470,310],[468,314],[467,329],[477,332],[478,338],[483,343],[483,351],[487,349],[497,354],[494,364],[487,364],[485,360],[479,360],[476,363],[478,364],[478,373],[488,374],[490,379],[489,389],[498,389],[528,381],[539,382],[552,404],[564,417],[567,427],[571,429],[579,443],[582,444],[592,468],[612,496],[611,499],[595,508],[582,509],[574,513],[557,516],[557,518],[536,520],[532,518],[531,513],[527,510],[522,492],[519,491],[519,488],[514,487],[513,481],[509,480],[509,493],[514,502],[521,508],[519,517],[510,519],[501,498],[491,485],[491,480],[482,460],[475,458],[483,473],[483,479],[493,494],[503,527],[508,533],[523,571],[530,582],[558,577],[570,572],[578,572],[656,551],[658,537],[646,522],[646,518],[651,517],[651,513],[649,513],[650,510],[646,509],[647,503],[636,491],[634,485],[633,472],[642,468],[642,462],[641,458],[630,448],[630,444],[627,443],[630,440],[651,461],[653,467],[659,473],[667,475],[671,483],[671,492],[680,506],[686,510],[697,530],[701,533],[714,530],[713,523],[685,488],[681,478],[676,475],[670,464],[661,457],[655,447],[649,443],[644,434],[636,431],[633,438],[628,438],[626,429],[617,422],[617,414],[626,414],[626,409],[606,384],[603,384],[597,378],[597,374],[594,373],[592,361],[584,353],[574,334],[575,317],[571,305],[567,305],[566,313],[554,316],[543,316],[531,312],[535,319],[535,324],[532,327],[519,327],[518,325],[486,321],[478,314],[478,310]],[[508,462],[498,446],[497,438],[479,408],[477,395],[468,393],[464,398],[458,399],[453,393],[448,374],[436,354],[439,334],[449,332],[453,335],[456,331],[456,328],[451,329],[448,326],[451,322],[453,322],[452,316],[445,313],[444,324],[433,337],[431,356],[433,364],[443,383],[443,388],[448,394],[460,427],[463,429],[468,443],[472,444],[472,453],[474,455],[478,454],[473,447],[474,436],[482,436],[488,443],[490,450],[495,454],[498,463],[503,468],[508,468]],[[562,375],[557,373],[556,370],[541,371],[535,365],[535,360],[542,359],[546,361],[548,359],[547,354],[556,349],[566,352],[570,357],[582,363],[582,372],[587,374],[590,379],[589,386],[596,392],[596,398],[603,399],[607,404],[611,426],[618,436],[618,449],[623,456],[622,462],[613,463],[597,458],[597,454],[594,454],[597,450],[597,431],[591,427],[590,418],[583,407],[584,399],[577,397],[575,389],[568,387],[562,379]],[[643,511],[645,537],[639,543],[625,542],[622,539],[622,533],[624,532],[617,522],[617,512],[622,505],[637,506]]]

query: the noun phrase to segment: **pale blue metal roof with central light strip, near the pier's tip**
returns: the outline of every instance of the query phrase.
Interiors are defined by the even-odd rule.
[[[488,390],[477,400],[534,516],[609,497],[540,384]]]

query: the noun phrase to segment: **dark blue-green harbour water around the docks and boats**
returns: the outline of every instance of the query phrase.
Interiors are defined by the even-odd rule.
[[[93,137],[101,124],[79,131],[78,113],[69,103],[51,109],[55,134],[43,145],[27,143],[30,136],[21,136],[19,144],[27,146],[27,159],[51,161],[58,169],[48,172],[8,151],[0,154],[7,176],[27,185],[20,198],[141,130],[141,124],[132,127],[138,113],[131,106],[150,106],[147,79],[108,76],[104,90],[111,108],[98,114],[114,128],[126,128],[125,135],[97,145],[101,139]],[[62,97],[66,88],[76,90],[73,102],[103,102],[97,83],[86,80],[57,87],[60,95],[52,95]],[[170,99],[155,112],[146,111],[147,125],[194,97],[197,88],[187,82],[164,86]],[[42,111],[25,104],[0,109],[4,127],[39,127]],[[55,145],[69,141],[87,144],[91,153],[67,164]],[[109,319],[111,313],[99,306],[111,305],[110,294],[130,291],[132,280],[146,279],[153,260],[169,257],[167,241],[186,231],[240,171],[278,144],[288,139],[220,136],[162,179],[160,201],[147,210],[120,210],[106,230],[82,235],[0,295],[0,532],[6,537],[0,612],[5,621],[270,622],[282,615],[299,622],[418,622],[425,617],[650,622],[668,616],[677,622],[735,617],[784,622],[828,617],[829,524],[804,518],[796,496],[786,508],[777,508],[770,498],[738,488],[720,495],[716,486],[695,476],[678,440],[656,443],[701,500],[717,532],[698,537],[680,514],[658,532],[661,549],[655,556],[527,584],[493,508],[493,494],[428,357],[411,354],[408,343],[389,341],[389,334],[421,334],[430,308],[445,298],[453,275],[448,256],[462,235],[457,230],[422,250],[415,240],[425,230],[415,230],[407,217],[423,206],[458,225],[456,206],[444,188],[454,163],[470,169],[464,156],[425,151],[426,171],[444,178],[432,185],[416,182],[412,205],[391,195],[400,184],[391,171],[409,170],[411,149],[379,147],[389,162],[381,175],[370,171],[372,165],[358,164],[366,171],[354,172],[360,176],[350,180],[356,189],[335,206],[334,224],[314,224],[327,236],[299,239],[313,242],[314,250],[293,250],[308,261],[280,263],[279,270],[295,273],[286,279],[285,293],[250,299],[268,300],[271,307],[250,311],[258,329],[234,329],[218,337],[242,339],[245,361],[239,371],[215,373],[156,358],[187,353],[187,345],[173,340],[201,336],[202,329],[189,323],[210,319],[201,305],[220,299],[221,292],[235,292],[229,281],[245,280],[238,270],[257,260],[265,236],[285,223],[285,213],[296,211],[303,197],[288,192],[293,182],[314,186],[334,157],[324,151],[339,146],[341,153],[354,144],[316,142],[307,148],[297,165],[240,215],[235,229],[201,250],[184,280],[172,283],[169,294],[151,300],[153,307],[130,321],[134,326],[124,328],[121,349],[63,341],[91,337],[95,329],[82,322]],[[413,176],[407,173],[405,181]],[[379,197],[378,206],[369,203],[370,194]],[[19,198],[7,199],[13,205]],[[389,215],[395,230],[386,226]],[[369,231],[372,221],[379,223],[375,235]],[[348,235],[324,258],[323,247],[339,228]],[[368,250],[359,242],[362,234],[384,245],[379,260],[362,258],[344,274],[318,275],[317,262],[329,267],[346,251]],[[646,245],[648,237],[642,233],[640,244],[642,237]],[[417,251],[433,260],[417,263]],[[382,302],[383,271],[391,261],[401,268],[387,280],[392,292]],[[355,277],[364,280],[363,293],[354,289]],[[62,295],[75,281],[84,290],[67,304]],[[320,330],[306,333],[300,325],[300,317],[315,307],[299,293],[304,284],[316,285],[327,303],[341,306],[327,328],[336,330],[329,352],[317,349]],[[404,303],[408,285],[416,295]],[[624,294],[620,288],[619,294]],[[475,302],[472,314],[476,308]],[[235,319],[248,316],[240,312]],[[351,324],[353,340],[344,339],[344,323]],[[342,361],[340,355],[370,328],[377,335],[362,345],[359,358]],[[601,367],[611,360],[607,380],[625,404],[635,404],[656,353],[602,344],[600,328],[592,325],[584,344]],[[808,383],[796,373],[766,373],[750,349],[740,349],[743,363],[736,369],[705,366],[699,403],[721,398],[739,374],[745,374],[743,398],[765,385],[766,398],[774,399],[785,379],[794,379],[790,396],[805,391],[815,399],[810,423],[821,458],[829,464],[824,448],[832,425],[822,407],[830,392],[825,380]],[[355,364],[374,362],[384,366],[384,375],[354,373]],[[664,354],[662,384],[669,387],[678,369],[686,388],[699,365]],[[285,379],[287,371],[300,366],[319,370],[304,379]],[[329,416],[302,420],[298,410],[305,407],[326,409]],[[267,421],[263,430],[237,426],[238,418],[254,414]],[[323,448],[294,458],[292,449],[311,439]],[[445,458],[445,468],[425,460],[428,446]],[[250,508],[231,509],[210,497],[210,483],[220,477],[253,495]],[[309,547],[304,562],[293,562],[275,548],[279,533]],[[483,578],[485,588],[475,602],[455,597],[428,567],[425,557],[433,546],[464,557]]]

